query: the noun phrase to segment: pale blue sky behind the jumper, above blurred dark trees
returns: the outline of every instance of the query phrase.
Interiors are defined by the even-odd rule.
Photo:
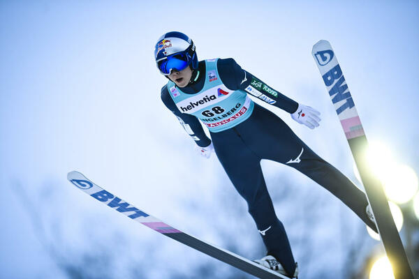
[[[418,12],[418,1],[0,1],[0,278],[66,278],[45,243],[77,255],[87,249],[84,241],[101,245],[96,234],[108,239],[115,227],[141,247],[152,243],[145,251],[154,251],[154,261],[184,252],[84,197],[66,181],[71,170],[201,239],[222,244],[212,213],[222,214],[229,200],[243,214],[236,226],[254,230],[216,156],[200,158],[161,103],[166,78],[153,51],[167,31],[190,36],[198,59],[233,57],[277,91],[319,110],[321,126],[310,130],[266,105],[355,179],[311,56],[318,40],[329,40],[367,138],[418,172]],[[277,163],[262,165],[271,193],[276,179],[316,188]],[[86,228],[94,235],[84,239]],[[159,253],[165,248],[172,252]],[[150,260],[145,252],[124,251],[130,253]],[[161,269],[151,264],[149,272],[168,278]]]

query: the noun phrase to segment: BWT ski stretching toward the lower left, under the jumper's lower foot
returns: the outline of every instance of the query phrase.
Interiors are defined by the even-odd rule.
[[[67,174],[67,179],[73,183],[74,186],[80,188],[80,190],[82,190],[84,193],[87,193],[87,195],[94,197],[99,202],[108,205],[110,208],[119,211],[120,213],[137,221],[138,223],[141,223],[142,225],[154,229],[156,232],[160,232],[161,234],[168,236],[171,239],[175,239],[180,243],[184,243],[186,246],[210,255],[215,259],[219,259],[221,262],[235,266],[237,269],[240,269],[241,271],[247,272],[258,278],[289,279],[288,277],[271,271],[270,269],[267,269],[260,264],[256,264],[256,262],[252,262],[251,260],[236,255],[233,252],[216,247],[210,243],[207,243],[206,241],[197,239],[194,236],[181,232],[178,229],[167,225],[158,218],[151,216],[144,211],[141,211],[137,207],[128,204],[128,202],[125,202],[119,197],[109,193],[106,190],[103,190],[103,188],[97,186],[80,172],[69,172]]]

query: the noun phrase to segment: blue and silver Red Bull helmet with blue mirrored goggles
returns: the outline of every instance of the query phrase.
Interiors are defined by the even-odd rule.
[[[154,47],[154,59],[163,75],[170,75],[172,70],[183,70],[189,65],[193,70],[198,68],[195,44],[181,32],[163,34]]]

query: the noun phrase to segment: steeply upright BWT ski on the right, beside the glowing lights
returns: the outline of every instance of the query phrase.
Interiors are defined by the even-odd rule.
[[[348,90],[345,77],[337,62],[336,54],[327,40],[318,41],[313,46],[311,54],[314,56],[318,70],[320,70],[323,77],[323,82],[335,106],[341,126],[344,129],[355,164],[360,172],[367,199],[372,207],[385,252],[392,263],[395,278],[413,279],[413,273],[409,266],[402,240],[392,219],[381,182],[368,171],[367,159],[365,158],[365,150],[368,144],[367,137],[365,136],[364,128],[362,128],[351,92]]]

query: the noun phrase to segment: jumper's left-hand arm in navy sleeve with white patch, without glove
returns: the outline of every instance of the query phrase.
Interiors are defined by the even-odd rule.
[[[195,140],[196,144],[201,147],[209,146],[211,144],[211,140],[205,135],[203,126],[201,126],[198,119],[191,115],[191,114],[184,114],[179,111],[176,107],[175,102],[169,95],[168,86],[165,85],[161,89],[161,100],[163,101],[164,105],[175,114],[179,122],[182,124],[183,128],[186,130],[193,140]]]

